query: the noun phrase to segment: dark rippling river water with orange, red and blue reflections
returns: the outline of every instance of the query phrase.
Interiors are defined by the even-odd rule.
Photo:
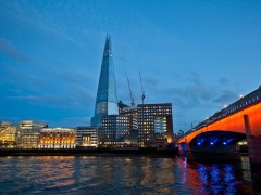
[[[252,194],[239,164],[141,156],[0,157],[0,194]]]

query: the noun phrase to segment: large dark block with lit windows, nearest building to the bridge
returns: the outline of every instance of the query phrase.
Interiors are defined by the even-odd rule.
[[[173,142],[172,104],[138,105],[138,144],[154,147]]]

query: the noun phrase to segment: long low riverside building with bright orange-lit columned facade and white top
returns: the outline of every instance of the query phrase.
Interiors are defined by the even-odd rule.
[[[76,131],[69,128],[45,128],[40,131],[40,148],[75,148]]]

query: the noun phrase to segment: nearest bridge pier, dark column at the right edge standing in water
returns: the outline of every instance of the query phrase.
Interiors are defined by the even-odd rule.
[[[248,115],[244,115],[248,143],[248,156],[251,168],[252,186],[254,193],[261,194],[261,136],[252,135]]]

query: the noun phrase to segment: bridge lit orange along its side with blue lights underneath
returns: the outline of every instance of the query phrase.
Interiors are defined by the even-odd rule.
[[[237,143],[245,139],[252,177],[260,184],[261,86],[194,127],[178,140],[178,150],[187,160],[239,160]]]

